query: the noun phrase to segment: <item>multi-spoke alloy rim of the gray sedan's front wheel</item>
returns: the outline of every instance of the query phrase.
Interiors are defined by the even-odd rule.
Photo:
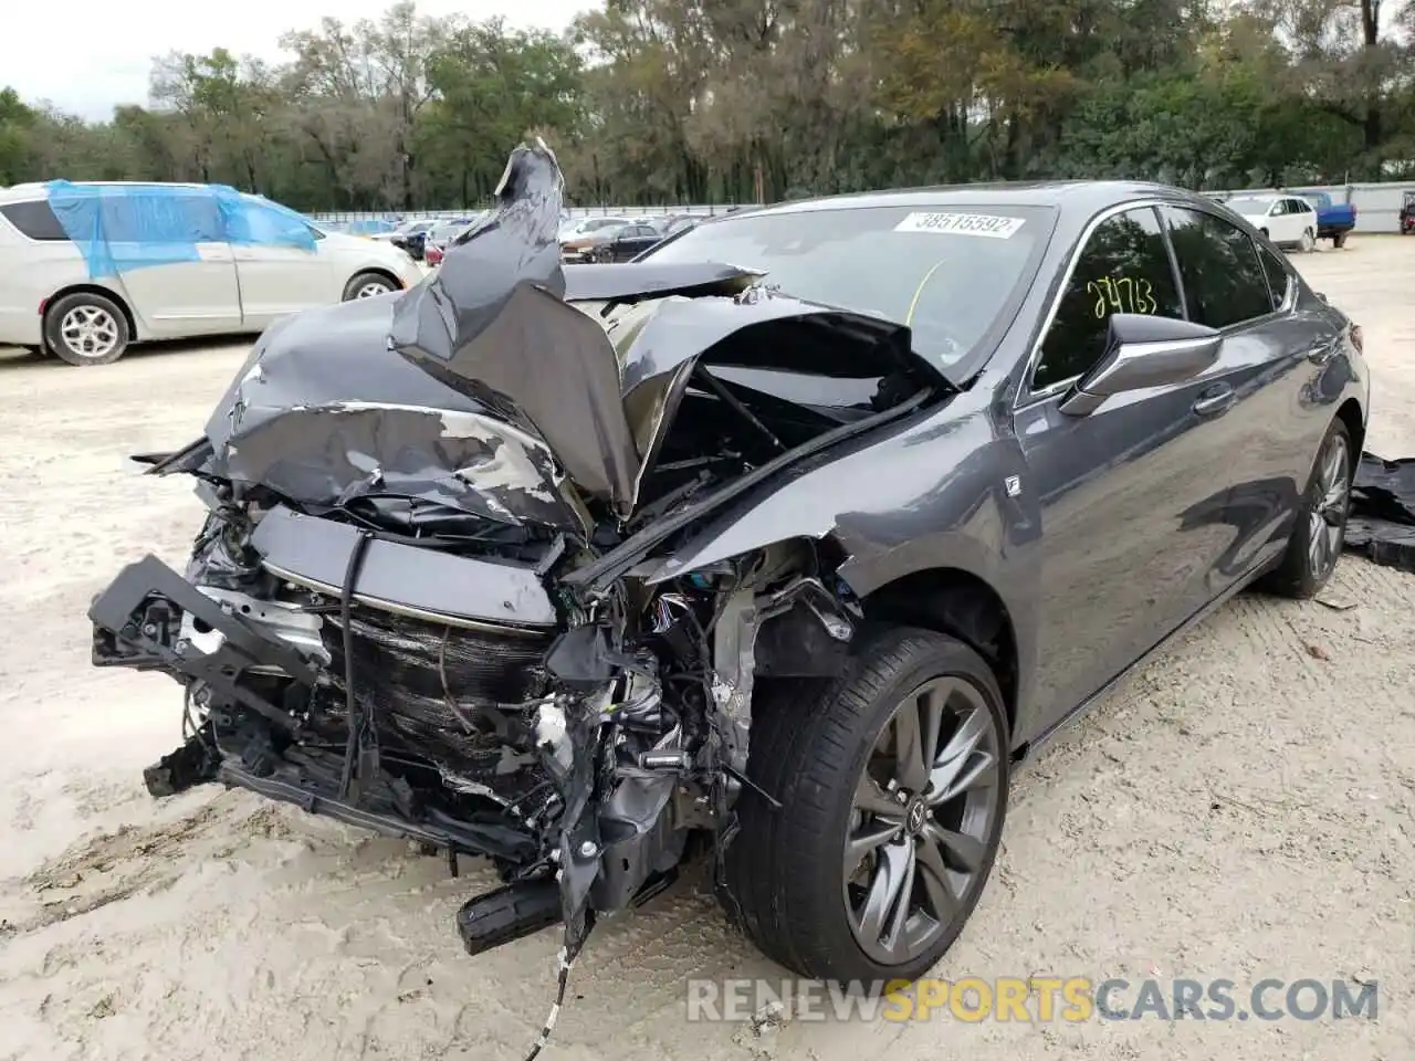
[[[882,965],[932,946],[981,887],[1002,801],[1002,741],[982,693],[935,678],[880,729],[850,805],[850,931]]]

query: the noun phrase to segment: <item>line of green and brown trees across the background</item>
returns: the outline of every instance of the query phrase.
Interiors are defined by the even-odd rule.
[[[1415,3],[607,0],[560,34],[325,18],[154,59],[86,123],[0,91],[0,184],[212,181],[299,209],[483,202],[546,136],[576,204],[972,180],[1415,175]]]

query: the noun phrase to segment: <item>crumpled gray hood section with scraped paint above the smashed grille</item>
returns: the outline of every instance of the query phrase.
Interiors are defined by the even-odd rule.
[[[582,533],[545,441],[392,355],[391,318],[365,298],[267,331],[207,423],[208,471],[308,505],[417,498]]]

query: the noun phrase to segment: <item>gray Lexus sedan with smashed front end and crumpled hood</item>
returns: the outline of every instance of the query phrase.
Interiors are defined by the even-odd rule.
[[[1245,587],[1332,576],[1361,331],[1159,185],[792,202],[601,266],[560,187],[519,149],[433,277],[272,327],[150,458],[207,523],[89,613],[95,662],[187,686],[149,788],[490,856],[463,942],[560,924],[560,1000],[703,849],[782,965],[914,979],[1020,764]]]

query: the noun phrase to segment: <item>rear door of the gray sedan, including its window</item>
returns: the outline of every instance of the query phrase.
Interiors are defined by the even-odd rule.
[[[1231,540],[1207,573],[1213,594],[1285,545],[1329,419],[1310,392],[1340,334],[1326,315],[1298,306],[1283,255],[1217,214],[1162,214],[1190,318],[1224,332],[1211,395],[1228,407],[1210,419],[1224,451],[1213,478],[1227,488],[1220,519]]]

